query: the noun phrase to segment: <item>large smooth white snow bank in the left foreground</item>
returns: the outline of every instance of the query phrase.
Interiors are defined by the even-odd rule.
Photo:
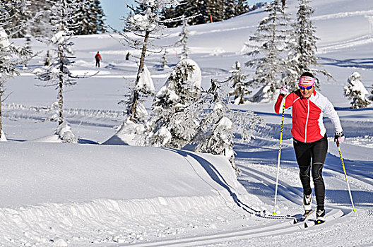
[[[74,237],[97,243],[133,241],[131,229],[122,229],[120,236],[115,230],[146,226],[150,217],[162,214],[211,215],[213,210],[262,205],[221,156],[31,142],[0,143],[0,150],[0,233],[14,246],[20,242],[12,239],[62,246]]]

